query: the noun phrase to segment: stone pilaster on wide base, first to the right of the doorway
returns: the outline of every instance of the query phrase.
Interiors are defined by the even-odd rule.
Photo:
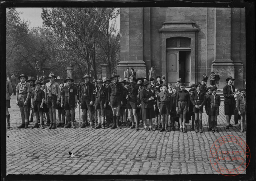
[[[221,80],[220,88],[226,85],[225,79],[234,76],[234,63],[231,60],[231,8],[215,8],[214,61],[211,71],[217,71]]]

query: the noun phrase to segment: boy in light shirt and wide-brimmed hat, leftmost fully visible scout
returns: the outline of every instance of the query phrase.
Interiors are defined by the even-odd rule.
[[[16,104],[20,107],[20,114],[22,117],[22,124],[18,128],[28,128],[28,101],[31,94],[27,75],[20,75],[18,77],[20,83],[16,87]]]

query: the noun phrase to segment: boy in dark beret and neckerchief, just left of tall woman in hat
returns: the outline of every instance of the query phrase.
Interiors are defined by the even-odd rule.
[[[211,91],[213,94],[208,97],[207,104],[209,107],[209,115],[211,115],[212,132],[214,133],[219,132],[217,130],[217,117],[219,115],[219,106],[221,106],[221,96],[216,94],[216,86],[211,87]]]

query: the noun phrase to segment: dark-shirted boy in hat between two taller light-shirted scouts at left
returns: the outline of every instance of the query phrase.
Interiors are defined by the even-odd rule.
[[[45,101],[45,92],[43,92],[42,89],[40,89],[42,83],[40,81],[35,81],[33,84],[33,87],[35,87],[35,90],[32,91],[32,96],[31,96],[31,103],[32,104],[32,109],[35,113],[35,125],[32,126],[31,128],[39,128],[38,125],[38,120],[40,117],[40,125],[41,128],[44,129],[45,127],[43,126],[43,103]]]

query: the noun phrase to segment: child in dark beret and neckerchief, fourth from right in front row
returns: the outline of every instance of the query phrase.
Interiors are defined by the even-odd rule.
[[[196,133],[198,132],[197,122],[199,119],[199,132],[202,133],[202,114],[204,113],[204,104],[205,104],[205,92],[201,90],[202,84],[200,82],[196,83],[196,90],[192,95],[192,104],[194,105],[193,112],[195,114],[196,122]]]

